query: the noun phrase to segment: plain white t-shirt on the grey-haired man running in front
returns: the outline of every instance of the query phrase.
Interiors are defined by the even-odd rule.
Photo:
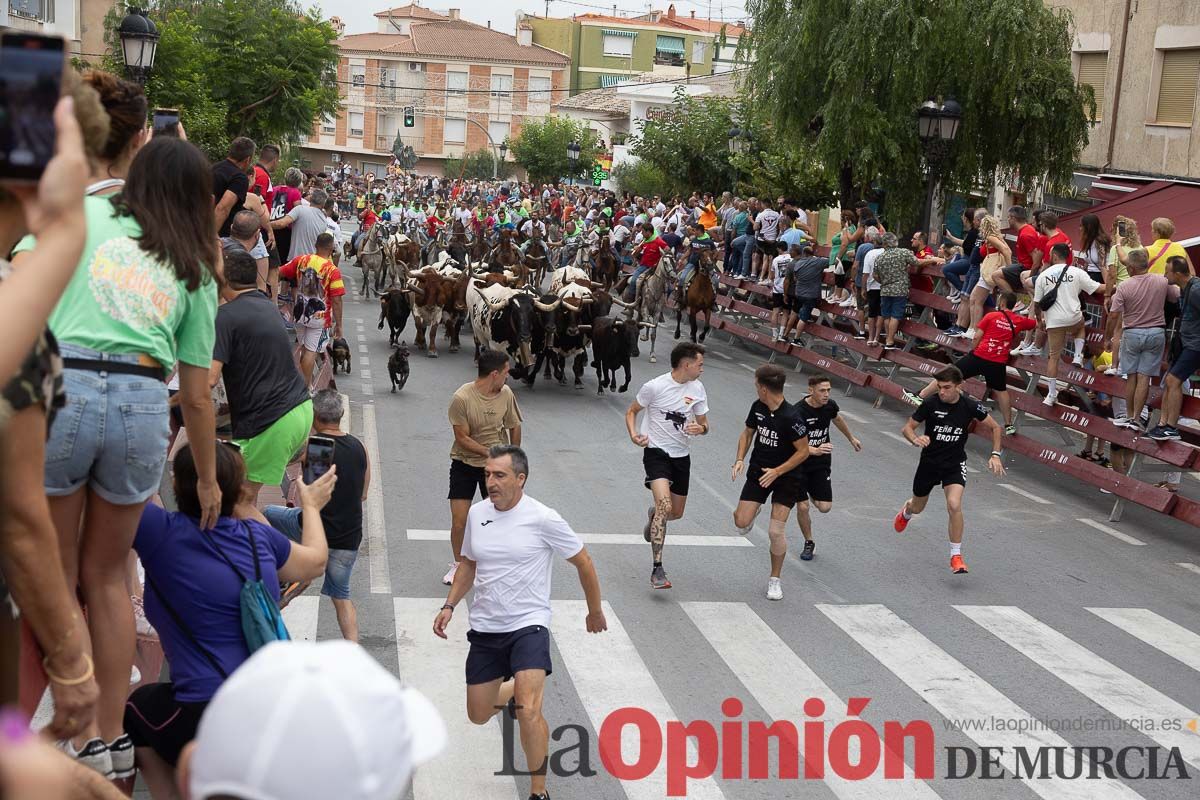
[[[473,631],[550,627],[553,557],[574,558],[583,542],[557,511],[526,494],[508,511],[480,500],[467,512],[462,554],[475,561]]]

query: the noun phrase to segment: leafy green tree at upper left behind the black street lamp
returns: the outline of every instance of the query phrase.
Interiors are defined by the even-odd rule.
[[[294,0],[158,0],[162,38],[146,83],[151,107],[179,108],[208,156],[230,139],[296,143],[337,112],[336,31]],[[121,13],[106,18],[106,66],[121,71]]]

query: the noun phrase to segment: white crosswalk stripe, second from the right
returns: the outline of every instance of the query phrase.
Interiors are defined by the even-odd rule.
[[[1026,658],[1121,720],[1193,720],[1196,714],[1118,669],[1084,645],[1015,606],[955,606]],[[1200,765],[1200,736],[1190,730],[1145,730],[1163,747],[1178,747]]]

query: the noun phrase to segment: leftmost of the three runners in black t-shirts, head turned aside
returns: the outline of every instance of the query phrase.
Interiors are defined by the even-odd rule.
[[[770,498],[767,600],[784,599],[779,576],[787,555],[787,517],[797,500],[804,497],[804,481],[798,468],[809,457],[809,432],[797,408],[784,397],[786,380],[787,373],[773,363],[755,369],[754,385],[758,399],[746,415],[746,427],[738,439],[737,459],[733,462],[732,480],[736,481],[752,441],[754,452],[738,507],[733,511],[733,524],[743,536],[749,534],[762,504]]]

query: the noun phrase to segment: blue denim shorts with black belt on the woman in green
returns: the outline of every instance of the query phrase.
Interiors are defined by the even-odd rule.
[[[59,348],[65,359],[138,362],[137,355],[65,343]],[[149,500],[167,463],[167,384],[142,375],[66,369],[64,387],[67,404],[46,443],[46,493],[65,497],[86,486],[113,505]]]

